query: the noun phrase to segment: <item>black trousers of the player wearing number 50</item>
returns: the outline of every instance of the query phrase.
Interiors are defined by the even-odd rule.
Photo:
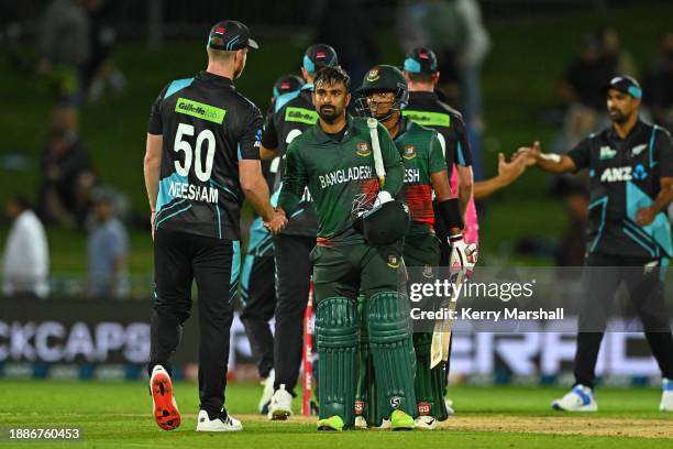
[[[154,236],[155,300],[151,325],[150,364],[173,372],[175,353],[191,308],[196,280],[199,305],[199,398],[210,416],[224,405],[229,335],[233,320],[231,298],[238,281],[234,243],[158,229]]]

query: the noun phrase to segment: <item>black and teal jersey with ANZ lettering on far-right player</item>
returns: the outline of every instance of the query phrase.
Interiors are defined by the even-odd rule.
[[[650,206],[661,177],[673,176],[673,145],[664,129],[638,121],[620,139],[610,127],[580,142],[567,155],[588,168],[591,185],[588,252],[670,258],[671,228],[665,210],[646,227],[636,212]]]

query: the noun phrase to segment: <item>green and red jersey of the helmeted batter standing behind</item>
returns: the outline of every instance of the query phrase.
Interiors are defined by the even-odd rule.
[[[430,175],[446,171],[446,162],[437,131],[407,118],[401,120],[395,145],[405,164],[402,199],[411,213],[411,226],[407,236],[426,234],[431,232],[434,226]]]

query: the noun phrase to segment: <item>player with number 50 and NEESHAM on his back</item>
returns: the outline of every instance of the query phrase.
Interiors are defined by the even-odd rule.
[[[179,426],[170,358],[199,292],[197,431],[234,431],[242,425],[224,408],[231,299],[240,267],[240,209],[245,196],[272,232],[286,223],[269,202],[260,165],[262,116],[233,87],[247,48],[257,48],[241,22],[216,24],[208,36],[208,67],[169,83],[150,116],[144,161],[154,237],[154,313],[150,386],[154,418]]]

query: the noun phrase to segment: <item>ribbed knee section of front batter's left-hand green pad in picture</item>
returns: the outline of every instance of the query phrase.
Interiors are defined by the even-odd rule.
[[[316,309],[318,348],[344,348],[357,344],[357,310],[345,297],[331,297]]]

